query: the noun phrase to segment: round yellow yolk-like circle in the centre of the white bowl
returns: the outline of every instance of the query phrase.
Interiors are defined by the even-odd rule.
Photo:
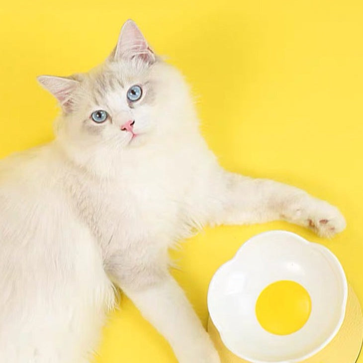
[[[257,320],[272,334],[297,332],[305,325],[310,313],[310,295],[295,281],[273,282],[261,292],[256,302]]]

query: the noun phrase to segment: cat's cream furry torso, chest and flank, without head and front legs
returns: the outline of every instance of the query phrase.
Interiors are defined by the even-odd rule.
[[[111,178],[80,170],[57,142],[0,162],[1,362],[81,363],[114,302],[104,271],[119,264],[140,285],[133,279],[153,251],[163,269],[168,246],[205,222],[198,183],[216,163],[202,139],[173,142],[173,154],[167,143],[135,149]]]

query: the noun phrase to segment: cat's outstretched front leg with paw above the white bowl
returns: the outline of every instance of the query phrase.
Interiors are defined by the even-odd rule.
[[[332,237],[346,227],[337,207],[305,191],[265,179],[223,171],[210,196],[212,224],[250,224],[286,220]]]

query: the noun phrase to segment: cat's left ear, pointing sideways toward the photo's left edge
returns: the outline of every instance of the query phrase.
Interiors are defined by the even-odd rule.
[[[66,77],[39,76],[38,82],[57,98],[65,112],[72,111],[72,93],[79,86],[79,81]]]

